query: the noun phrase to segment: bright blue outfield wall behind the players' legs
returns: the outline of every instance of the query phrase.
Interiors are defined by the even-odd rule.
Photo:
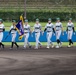
[[[11,42],[11,34],[10,34],[9,37],[5,40],[5,37],[7,36],[7,34],[8,34],[8,31],[4,32],[3,42]],[[33,35],[33,37],[32,37],[32,35]],[[33,33],[32,35],[30,35],[30,37],[29,37],[28,40],[29,40],[30,42],[35,42],[35,33]],[[22,40],[18,40],[18,37],[19,37],[19,35],[18,35],[18,33],[17,33],[17,37],[16,37],[16,41],[17,41],[17,42],[23,42],[23,41],[24,41],[24,38],[23,38]],[[56,36],[53,35],[51,40],[52,40],[53,42],[56,42]],[[64,35],[61,35],[60,40],[61,40],[62,42],[68,42],[66,32],[64,32]],[[73,34],[72,40],[73,40],[74,42],[76,42],[76,35]],[[41,42],[46,42],[46,41],[47,41],[46,32],[44,33],[44,35],[42,35],[42,34],[40,35],[40,41],[41,41]]]

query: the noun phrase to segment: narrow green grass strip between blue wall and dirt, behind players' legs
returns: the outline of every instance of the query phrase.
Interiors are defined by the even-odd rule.
[[[3,42],[5,45],[11,45],[11,42]],[[19,45],[24,45],[24,42],[17,42]],[[35,45],[35,42],[30,42],[31,45]],[[57,43],[54,42],[54,45],[56,45]],[[42,42],[43,46],[46,46],[47,43],[46,42]],[[62,43],[63,46],[68,46],[68,42],[63,42]],[[74,42],[74,46],[76,46],[76,42]]]

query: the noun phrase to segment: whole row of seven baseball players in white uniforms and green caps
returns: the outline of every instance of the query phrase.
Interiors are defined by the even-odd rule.
[[[12,40],[11,40],[12,44],[11,44],[10,49],[13,49],[14,44],[17,46],[17,48],[19,48],[18,44],[15,41],[16,34],[17,34],[15,25],[16,25],[16,21],[13,20],[12,25],[10,27],[10,31],[9,31],[9,34],[10,33],[12,34]],[[0,19],[0,47],[2,47],[2,48],[4,48],[4,44],[2,44],[4,31],[5,31],[5,27],[3,24],[3,20]],[[41,24],[39,23],[39,19],[36,19],[36,24],[34,25],[33,31],[31,30],[31,27],[28,24],[28,20],[26,19],[25,24],[24,24],[24,49],[26,49],[27,44],[28,44],[29,48],[31,48],[28,38],[29,38],[29,33],[32,33],[32,32],[35,32],[35,39],[36,39],[35,49],[38,49],[39,47],[41,47],[42,44],[39,41],[40,33],[42,33],[42,35],[43,35],[43,33],[45,31],[47,32],[47,34],[46,34],[47,35],[47,47],[46,48],[49,49],[50,45],[52,48],[54,47],[53,42],[50,40],[52,38],[53,34],[54,35],[56,34],[56,40],[57,40],[56,48],[59,48],[62,46],[62,42],[60,41],[60,36],[61,36],[61,34],[64,35],[64,33],[63,33],[63,25],[60,22],[60,18],[56,19],[55,25],[52,23],[51,18],[49,18],[44,31],[42,31],[42,27],[41,27]],[[72,18],[69,18],[69,21],[68,21],[67,27],[66,27],[66,32],[67,32],[67,37],[68,37],[68,41],[69,41],[68,47],[71,47],[73,45],[72,35],[73,35],[73,33],[75,34]]]

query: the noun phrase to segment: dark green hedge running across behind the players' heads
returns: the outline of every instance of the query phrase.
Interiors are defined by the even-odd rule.
[[[0,18],[6,21],[11,21],[12,19],[19,20],[19,16],[23,14],[23,11],[14,12],[14,11],[0,11]],[[52,21],[56,21],[56,18],[59,17],[62,21],[67,21],[70,17],[73,18],[73,21],[76,20],[76,11],[72,10],[39,10],[39,11],[27,11],[27,18],[29,21],[35,21],[36,18],[39,18],[41,22],[47,22],[48,18],[52,18]]]

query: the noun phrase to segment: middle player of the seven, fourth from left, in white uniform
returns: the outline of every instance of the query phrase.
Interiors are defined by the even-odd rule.
[[[34,32],[35,32],[35,39],[36,39],[36,47],[35,49],[38,49],[39,46],[41,47],[41,43],[39,41],[40,38],[40,32],[42,32],[41,30],[41,24],[39,23],[39,19],[36,19],[36,24],[34,25]]]

